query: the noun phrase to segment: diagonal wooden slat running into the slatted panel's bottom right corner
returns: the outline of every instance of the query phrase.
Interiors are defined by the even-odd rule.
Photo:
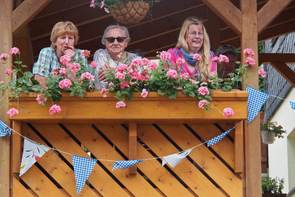
[[[186,150],[192,146],[202,144],[184,126],[176,128],[173,125],[158,125],[177,145]],[[225,191],[230,197],[242,195],[242,182],[224,164],[222,164],[205,145],[196,147],[189,155],[196,164]]]

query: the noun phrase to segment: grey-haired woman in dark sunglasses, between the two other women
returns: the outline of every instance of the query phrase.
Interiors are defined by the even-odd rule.
[[[97,62],[95,69],[95,89],[102,89],[105,85],[105,74],[108,69],[114,69],[121,64],[130,64],[133,59],[141,59],[134,53],[125,51],[129,41],[129,33],[126,27],[116,25],[108,26],[102,36],[102,44],[106,49],[98,49],[94,53],[93,61]],[[126,57],[123,58],[122,56]]]

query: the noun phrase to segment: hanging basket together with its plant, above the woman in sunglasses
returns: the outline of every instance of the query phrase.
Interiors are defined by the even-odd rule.
[[[125,25],[137,24],[146,16],[151,21],[149,8],[160,0],[91,0],[90,6],[105,7],[119,23]]]

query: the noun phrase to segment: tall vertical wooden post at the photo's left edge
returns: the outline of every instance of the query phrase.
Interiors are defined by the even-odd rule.
[[[0,54],[9,53],[12,46],[12,0],[0,0]],[[12,59],[10,58],[10,61]],[[6,85],[10,81],[10,77],[4,74],[4,70],[11,68],[8,64],[0,63],[0,79]],[[7,92],[6,92],[7,94]],[[2,94],[0,94],[0,99]],[[8,98],[2,100],[2,103],[8,101]],[[0,110],[0,119],[8,126],[10,126],[7,116],[8,104],[2,106]],[[0,138],[0,197],[9,197],[9,172],[10,172],[10,137],[6,135]]]

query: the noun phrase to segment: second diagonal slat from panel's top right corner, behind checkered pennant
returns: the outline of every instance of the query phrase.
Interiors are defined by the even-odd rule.
[[[201,136],[205,141],[208,141],[222,132],[219,131],[212,124],[190,124],[189,125],[199,136]],[[232,130],[231,133],[234,133],[235,130]],[[235,158],[234,158],[234,144],[229,140],[229,138],[224,137],[216,145],[211,146],[211,148],[227,163],[229,166],[234,168]]]

